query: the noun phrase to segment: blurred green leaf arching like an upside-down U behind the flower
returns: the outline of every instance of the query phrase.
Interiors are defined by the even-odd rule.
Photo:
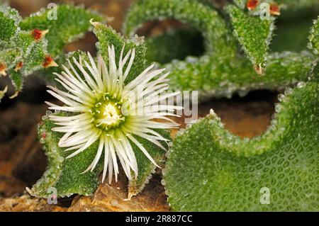
[[[146,21],[174,18],[203,34],[208,55],[235,55],[235,41],[218,12],[194,0],[140,0],[126,14],[123,33],[133,35]]]

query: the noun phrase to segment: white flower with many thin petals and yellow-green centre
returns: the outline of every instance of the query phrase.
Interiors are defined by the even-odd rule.
[[[125,57],[123,51],[124,47],[119,56],[118,67],[113,46],[108,47],[108,68],[101,56],[98,57],[97,65],[89,53],[89,63],[81,57],[79,62],[73,58],[74,64],[68,62],[69,69],[63,66],[64,72],[55,73],[56,80],[67,91],[48,86],[51,89],[48,92],[65,103],[65,106],[46,102],[52,110],[70,113],[68,116],[50,115],[50,120],[58,125],[52,130],[65,133],[58,145],[65,147],[65,151],[75,150],[67,158],[85,151],[98,140],[96,157],[86,171],[94,170],[103,153],[102,181],[108,171],[108,183],[112,181],[113,171],[117,181],[117,159],[121,162],[128,179],[132,179],[131,170],[135,176],[138,175],[138,164],[130,142],[139,147],[157,166],[135,136],[165,149],[160,141],[168,140],[154,129],[177,127],[178,124],[167,118],[167,115],[177,116],[174,111],[181,110],[179,106],[162,103],[167,101],[167,98],[176,96],[177,92],[161,95],[169,88],[166,84],[168,73],[163,74],[164,69],[153,69],[154,64],[147,67],[133,81],[124,84],[133,65],[135,49],[128,51]]]

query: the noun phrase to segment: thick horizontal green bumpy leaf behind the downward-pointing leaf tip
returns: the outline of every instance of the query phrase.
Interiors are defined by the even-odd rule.
[[[309,52],[275,52],[269,55],[264,75],[258,76],[249,60],[233,57],[186,57],[164,64],[171,73],[172,91],[197,90],[200,98],[245,96],[250,90],[281,90],[306,81],[313,56]]]

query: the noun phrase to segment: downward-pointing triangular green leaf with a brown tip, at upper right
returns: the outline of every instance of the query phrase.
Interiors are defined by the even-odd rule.
[[[259,74],[264,68],[269,52],[269,44],[274,30],[274,18],[250,16],[236,6],[226,7],[233,25],[234,35]]]

